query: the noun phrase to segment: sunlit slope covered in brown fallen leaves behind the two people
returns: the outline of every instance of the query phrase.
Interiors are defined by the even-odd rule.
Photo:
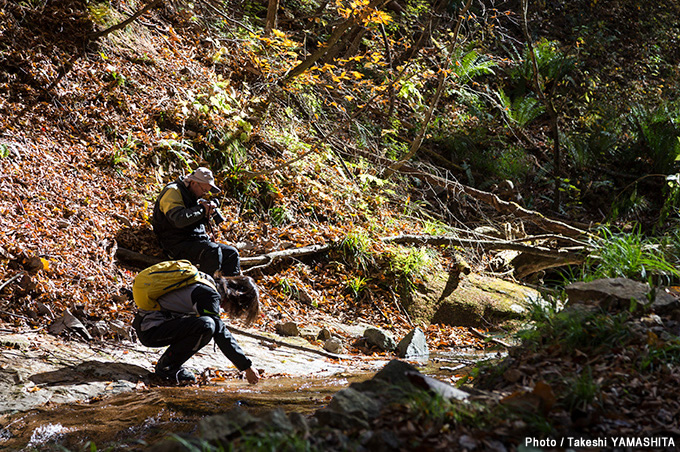
[[[238,40],[230,48],[229,67],[216,73],[214,61],[202,54],[208,44],[200,24],[170,5],[99,40],[88,40],[89,33],[104,28],[93,22],[97,10],[89,8],[77,0],[41,8],[0,2],[0,280],[27,272],[2,290],[5,328],[44,327],[77,305],[92,318],[131,320],[126,289],[138,268],[119,262],[116,250],[161,255],[149,215],[163,185],[186,171],[188,155],[172,146],[187,136],[200,142],[205,132],[200,121],[182,120],[186,100],[217,86],[227,69],[236,79],[248,76]],[[112,22],[132,11],[124,5],[121,10]],[[230,88],[234,98],[248,96],[246,84],[233,86],[244,89]],[[235,117],[197,118],[225,130],[239,127]],[[252,122],[255,141],[271,124]],[[309,124],[291,123],[289,129],[301,133]],[[201,152],[207,158],[210,151],[206,146]],[[293,151],[280,147],[268,153],[252,146],[242,158],[256,172],[295,157]],[[201,152],[191,156],[193,163],[208,163]],[[359,189],[337,165],[311,155],[278,176],[255,178],[252,188],[240,187],[253,197],[269,197],[293,212],[291,218],[277,226],[227,196],[222,208],[228,221],[216,231],[218,239],[245,243],[242,255],[252,256],[331,243],[354,231],[420,230],[418,222],[401,216],[399,194],[390,198]],[[218,173],[225,187],[242,183],[238,174],[224,177]],[[347,276],[334,262],[287,262],[254,276],[270,316],[261,327],[312,319],[315,313],[409,327],[384,289],[376,286],[375,297],[361,302],[350,297]],[[291,296],[286,290],[291,283],[313,296],[313,306]]]

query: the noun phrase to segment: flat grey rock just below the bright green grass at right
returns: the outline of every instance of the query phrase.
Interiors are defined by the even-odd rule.
[[[603,278],[590,282],[575,282],[566,287],[569,304],[590,304],[603,309],[628,309],[631,300],[647,305],[649,284],[627,278]]]

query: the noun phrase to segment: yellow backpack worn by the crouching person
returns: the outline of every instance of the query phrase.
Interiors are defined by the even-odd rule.
[[[160,311],[161,305],[157,300],[161,296],[195,283],[217,290],[213,281],[187,260],[159,262],[145,268],[135,277],[132,297],[140,309]]]

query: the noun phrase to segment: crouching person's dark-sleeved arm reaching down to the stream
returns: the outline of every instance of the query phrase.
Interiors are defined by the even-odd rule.
[[[248,383],[255,384],[259,381],[260,375],[253,368],[253,363],[245,355],[241,346],[238,345],[234,336],[229,332],[226,325],[220,318],[220,295],[212,288],[203,284],[198,284],[191,293],[191,299],[196,305],[198,315],[212,317],[215,320],[215,344],[222,350],[224,356],[234,363],[236,368],[246,373]]]

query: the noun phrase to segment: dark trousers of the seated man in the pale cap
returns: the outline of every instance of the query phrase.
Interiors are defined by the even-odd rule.
[[[241,274],[238,250],[233,246],[209,241],[191,241],[179,243],[166,251],[173,259],[187,259],[210,276],[217,270],[221,270],[224,276]]]

